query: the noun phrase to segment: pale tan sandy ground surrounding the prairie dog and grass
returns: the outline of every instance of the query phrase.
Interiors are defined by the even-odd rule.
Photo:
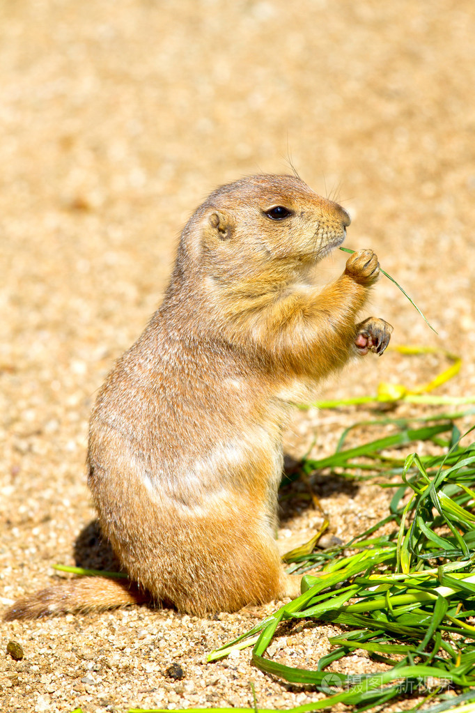
[[[394,343],[460,354],[461,373],[439,393],[475,394],[474,35],[471,0],[1,2],[3,604],[51,582],[52,563],[106,557],[85,486],[91,404],[160,301],[180,228],[215,185],[286,173],[291,158],[352,214],[348,246],[377,250],[439,332],[382,279],[371,312],[394,324]],[[344,262],[333,255],[318,279]],[[417,384],[445,365],[368,357],[322,395]],[[316,438],[315,451],[330,453],[344,424],[371,416],[297,414],[288,450],[298,456]],[[377,486],[318,483],[342,538],[387,507]],[[281,538],[302,542],[318,523],[295,510]],[[259,707],[319,699],[252,668],[249,650],[205,664],[271,610],[207,621],[135,607],[1,624],[1,709],[249,706],[249,681]],[[294,628],[273,654],[311,667],[329,632]],[[6,655],[12,639],[21,662]],[[181,681],[166,677],[171,662]],[[360,654],[346,670],[370,666]]]

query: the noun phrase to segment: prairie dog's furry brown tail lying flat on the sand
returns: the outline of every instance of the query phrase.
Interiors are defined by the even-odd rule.
[[[139,590],[128,580],[78,577],[19,599],[6,610],[4,620],[37,619],[68,612],[104,611],[127,604],[150,602],[151,599],[150,593]]]

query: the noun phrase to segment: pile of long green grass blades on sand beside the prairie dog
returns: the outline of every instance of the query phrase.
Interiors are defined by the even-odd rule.
[[[294,550],[287,557],[292,570],[317,570],[304,578],[302,595],[213,652],[210,660],[252,642],[260,670],[330,694],[292,709],[295,713],[337,702],[359,712],[427,687],[427,698],[439,699],[437,706],[423,706],[432,713],[459,704],[465,710],[475,701],[475,626],[467,622],[475,616],[475,443],[461,445],[453,419],[434,421],[418,429],[395,421],[395,434],[356,448],[343,448],[347,429],[333,456],[301,464],[306,473],[328,468],[351,478],[384,474],[382,487],[395,490],[390,512],[345,545],[310,555]],[[402,459],[383,454],[414,441],[430,441],[442,453]],[[265,657],[286,620],[333,622],[345,633],[330,639],[334,648],[316,670],[288,667]],[[385,664],[385,670],[357,676],[329,672],[333,662],[358,649]]]

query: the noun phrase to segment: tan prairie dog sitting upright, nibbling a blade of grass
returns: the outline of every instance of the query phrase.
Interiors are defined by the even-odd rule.
[[[78,578],[6,618],[154,600],[206,615],[300,593],[275,540],[288,404],[392,327],[357,323],[379,276],[355,252],[324,289],[316,262],[350,218],[299,178],[215,190],[184,227],[161,307],[100,390],[88,483],[134,585]]]

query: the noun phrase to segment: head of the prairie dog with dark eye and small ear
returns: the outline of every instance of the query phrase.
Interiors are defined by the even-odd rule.
[[[345,240],[350,217],[291,175],[221,186],[198,208],[180,250],[216,286],[276,288],[293,282]]]

